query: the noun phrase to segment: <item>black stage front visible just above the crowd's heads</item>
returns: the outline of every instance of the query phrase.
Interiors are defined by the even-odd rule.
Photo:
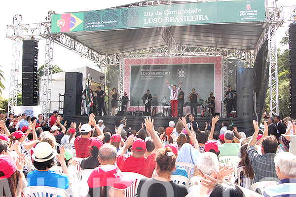
[[[88,116],[64,116],[64,118],[68,121],[68,125],[70,125],[71,122],[76,122],[77,125],[82,122],[82,124],[88,122]],[[144,122],[145,117],[134,117],[134,116],[126,116],[126,130],[131,127],[131,129],[135,129],[138,131],[141,129],[141,122]],[[169,121],[173,120],[175,124],[178,122],[178,118],[173,118],[173,117],[151,117],[154,119],[154,129],[157,130],[158,127],[163,126],[164,128],[169,126]],[[104,125],[106,127],[111,128],[113,131],[115,128],[115,121],[116,119],[123,119],[122,116],[96,116],[96,121],[98,122],[99,119],[104,120]],[[187,118],[188,119],[188,118]],[[207,121],[210,123],[211,118],[210,117],[205,117],[205,118],[195,118],[195,121],[198,123],[199,129],[204,130],[206,124],[205,122]],[[246,133],[246,136],[250,136],[253,134],[254,127],[252,123],[252,119],[243,119],[243,118],[220,118],[218,121],[218,126],[221,127],[221,123],[223,121],[228,121],[229,124],[231,124],[231,120],[233,121],[234,125],[237,127],[238,132],[244,132]],[[232,130],[232,128],[231,128]]]

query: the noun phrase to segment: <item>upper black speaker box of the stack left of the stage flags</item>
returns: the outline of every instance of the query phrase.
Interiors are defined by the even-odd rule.
[[[65,94],[82,94],[82,73],[67,72],[65,77]]]

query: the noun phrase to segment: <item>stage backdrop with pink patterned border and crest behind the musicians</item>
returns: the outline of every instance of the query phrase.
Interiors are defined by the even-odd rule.
[[[165,101],[170,105],[171,87],[177,87],[182,81],[181,88],[185,93],[185,102],[190,103],[188,96],[195,88],[200,99],[206,101],[210,92],[216,97],[215,112],[221,113],[222,102],[222,57],[157,57],[157,58],[125,58],[124,59],[124,84],[123,91],[130,98],[129,111],[144,111],[142,96],[149,89],[152,97],[151,106],[156,106],[160,112],[160,103]],[[121,95],[120,95],[121,96]],[[138,107],[139,101],[139,107]],[[204,102],[200,102],[202,104]],[[202,108],[198,111],[202,113]],[[184,112],[190,112],[186,107]]]

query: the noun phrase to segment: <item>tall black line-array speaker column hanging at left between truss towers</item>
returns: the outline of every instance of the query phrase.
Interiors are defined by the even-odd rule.
[[[38,42],[23,40],[22,101],[23,106],[38,105],[37,89]]]

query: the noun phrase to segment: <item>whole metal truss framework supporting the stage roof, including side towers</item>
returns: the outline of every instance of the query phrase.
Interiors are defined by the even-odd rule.
[[[198,1],[216,1],[216,0],[198,0]],[[176,1],[174,1],[176,2]],[[182,1],[184,2],[184,1]],[[128,6],[147,6],[147,5],[160,5],[160,4],[172,4],[170,0],[148,0],[145,2],[124,5],[119,7]],[[35,39],[46,39],[46,56],[44,67],[44,81],[46,84],[45,89],[42,90],[42,112],[49,116],[50,103],[47,100],[51,90],[51,79],[46,78],[51,73],[52,66],[52,52],[53,42],[56,42],[79,55],[88,58],[98,64],[100,68],[108,66],[119,66],[118,76],[118,91],[122,95],[123,91],[123,58],[127,57],[159,57],[159,56],[209,56],[220,55],[223,57],[223,92],[226,92],[227,87],[227,62],[231,59],[244,62],[244,66],[253,67],[256,55],[262,45],[262,43],[268,39],[268,64],[270,72],[270,109],[272,116],[278,115],[278,79],[277,79],[277,57],[276,57],[276,42],[275,31],[283,23],[283,17],[281,13],[282,8],[275,6],[275,0],[266,0],[266,22],[263,24],[263,32],[255,46],[254,50],[234,50],[216,47],[203,47],[195,45],[183,45],[177,44],[173,36],[171,35],[167,27],[158,28],[158,31],[162,38],[165,40],[166,45],[154,48],[147,48],[143,50],[133,51],[129,53],[121,53],[114,55],[101,55],[98,52],[92,50],[88,46],[82,44],[78,40],[70,37],[67,34],[50,34],[50,17],[53,12],[48,12],[47,22],[37,24],[21,25],[15,23],[7,26],[6,37],[13,40],[13,62],[11,65],[11,72],[18,72],[19,64],[19,50],[17,47],[20,45],[20,40],[30,39],[32,36]],[[262,23],[258,23],[262,25]],[[18,42],[17,42],[18,40]],[[16,43],[16,44],[14,44]],[[9,107],[10,112],[12,106],[16,105],[16,90],[17,90],[17,75],[15,73],[10,78],[10,93],[9,94]],[[15,82],[16,81],[16,85]],[[13,84],[13,85],[12,85]],[[41,94],[41,93],[40,93]],[[46,98],[45,98],[46,96]]]

